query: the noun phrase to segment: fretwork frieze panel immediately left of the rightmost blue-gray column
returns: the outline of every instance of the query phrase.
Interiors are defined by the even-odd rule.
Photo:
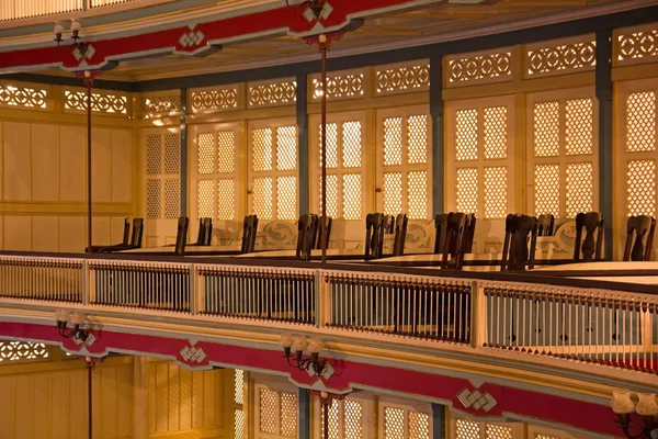
[[[568,41],[543,42],[525,47],[525,77],[592,70],[595,65],[597,42],[591,35]]]

